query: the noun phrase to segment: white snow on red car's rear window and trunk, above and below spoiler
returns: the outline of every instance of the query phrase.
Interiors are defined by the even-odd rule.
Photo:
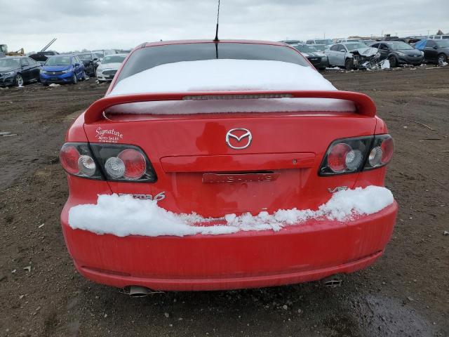
[[[109,95],[192,91],[334,91],[311,67],[272,60],[198,60],[159,65],[121,80]],[[217,112],[355,111],[354,103],[328,98],[260,98],[144,102],[108,113],[198,114]]]

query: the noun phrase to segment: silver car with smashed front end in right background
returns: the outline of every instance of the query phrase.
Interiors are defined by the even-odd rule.
[[[329,65],[344,67],[346,70],[374,70],[382,66],[382,58],[377,48],[368,47],[363,42],[343,42],[334,44],[324,51]]]

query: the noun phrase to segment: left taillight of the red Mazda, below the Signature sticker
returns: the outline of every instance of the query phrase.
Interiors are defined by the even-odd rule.
[[[145,153],[135,145],[65,143],[60,161],[74,176],[154,183],[156,173]]]

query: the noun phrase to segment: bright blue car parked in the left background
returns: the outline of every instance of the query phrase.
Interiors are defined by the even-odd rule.
[[[76,84],[80,79],[86,79],[86,72],[78,56],[53,55],[43,64],[40,77],[44,86],[51,83]]]

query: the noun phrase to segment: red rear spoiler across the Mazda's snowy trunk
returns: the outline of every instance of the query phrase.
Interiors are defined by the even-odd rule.
[[[136,93],[130,95],[109,95],[95,101],[84,113],[86,124],[102,119],[108,107],[126,103],[152,102],[163,100],[222,100],[255,98],[335,98],[350,100],[356,112],[366,117],[374,117],[376,107],[373,100],[363,93],[351,91],[206,91],[189,93]]]

